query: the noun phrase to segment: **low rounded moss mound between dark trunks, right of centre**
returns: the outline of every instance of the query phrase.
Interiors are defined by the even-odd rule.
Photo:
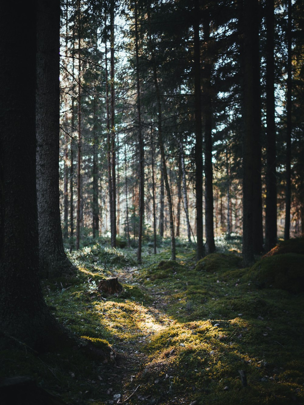
[[[212,253],[199,260],[195,266],[196,271],[215,273],[239,269],[242,266],[242,258],[232,253]]]

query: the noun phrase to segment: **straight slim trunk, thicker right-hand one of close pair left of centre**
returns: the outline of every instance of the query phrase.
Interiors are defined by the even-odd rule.
[[[112,169],[112,232],[111,245],[116,247],[116,152],[115,152],[115,96],[114,96],[114,8],[115,0],[110,0],[110,43],[111,43],[111,169]]]

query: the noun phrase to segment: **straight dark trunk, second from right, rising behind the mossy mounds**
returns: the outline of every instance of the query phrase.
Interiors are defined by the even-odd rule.
[[[276,124],[274,103],[274,0],[265,2],[266,13],[266,213],[265,250],[277,241],[276,209]]]

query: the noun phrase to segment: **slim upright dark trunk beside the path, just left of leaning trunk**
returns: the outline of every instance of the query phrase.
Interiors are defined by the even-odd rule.
[[[140,110],[140,85],[139,85],[139,55],[138,55],[138,21],[137,1],[135,0],[135,54],[136,54],[136,90],[137,90],[137,114],[138,114],[138,151],[139,151],[139,228],[137,261],[141,263],[141,242],[143,236],[143,210],[144,210],[144,172],[143,172],[143,137],[141,133],[141,110]]]

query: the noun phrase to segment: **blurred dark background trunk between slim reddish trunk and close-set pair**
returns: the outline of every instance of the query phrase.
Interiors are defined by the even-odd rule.
[[[98,208],[98,137],[96,128],[96,105],[93,105],[94,125],[93,125],[93,238],[99,235],[99,208]]]

